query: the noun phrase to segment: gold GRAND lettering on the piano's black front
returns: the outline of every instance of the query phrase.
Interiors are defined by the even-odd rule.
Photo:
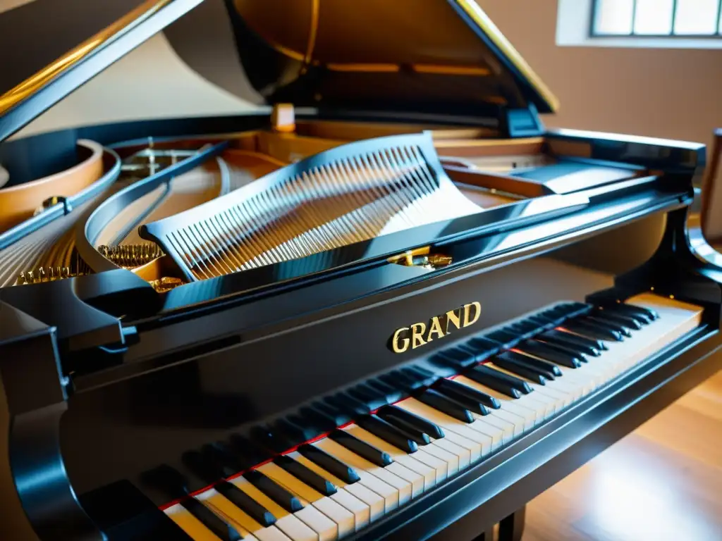
[[[404,353],[425,344],[444,338],[455,330],[474,325],[482,315],[482,304],[470,302],[457,309],[449,310],[443,315],[432,317],[428,322],[412,323],[401,327],[391,335],[388,347],[393,353]]]

